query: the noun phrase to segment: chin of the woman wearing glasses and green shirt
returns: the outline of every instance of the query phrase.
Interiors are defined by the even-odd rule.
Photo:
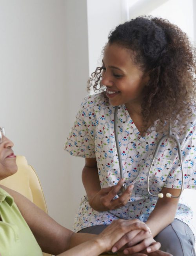
[[[0,163],[0,180],[7,178],[17,172],[16,158],[5,159]]]

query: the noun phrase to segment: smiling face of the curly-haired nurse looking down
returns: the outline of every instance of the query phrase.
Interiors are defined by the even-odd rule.
[[[141,105],[142,90],[148,80],[149,76],[145,76],[132,60],[130,50],[117,44],[106,45],[102,84],[106,86],[106,95],[113,106]]]

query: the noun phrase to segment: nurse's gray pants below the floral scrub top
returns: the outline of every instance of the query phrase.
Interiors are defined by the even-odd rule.
[[[100,234],[108,225],[97,225],[84,228],[79,232]],[[174,221],[164,228],[154,239],[161,243],[161,250],[173,256],[196,256],[194,250],[194,234],[191,228],[183,221]]]

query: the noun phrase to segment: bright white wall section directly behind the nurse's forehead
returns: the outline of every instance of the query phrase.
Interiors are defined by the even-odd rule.
[[[89,74],[102,66],[101,52],[107,43],[108,34],[117,25],[126,21],[125,0],[87,0]]]

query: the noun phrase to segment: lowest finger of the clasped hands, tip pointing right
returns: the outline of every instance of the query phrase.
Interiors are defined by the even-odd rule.
[[[146,238],[144,239],[141,243],[126,248],[125,250],[123,250],[124,254],[132,254],[135,252],[140,252],[144,249],[146,249],[146,251],[148,252],[152,252],[155,250],[158,250],[161,247],[160,243],[156,242],[152,237]]]

